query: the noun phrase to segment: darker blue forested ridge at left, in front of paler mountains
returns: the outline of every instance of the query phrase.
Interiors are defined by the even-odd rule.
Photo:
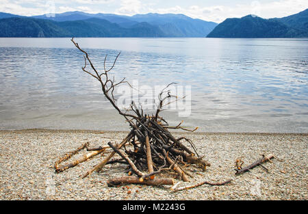
[[[40,18],[1,18],[0,37],[164,37],[149,23],[120,27],[101,18],[80,21],[49,21]]]

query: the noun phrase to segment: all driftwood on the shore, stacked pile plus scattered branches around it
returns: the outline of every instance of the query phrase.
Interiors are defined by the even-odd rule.
[[[104,70],[99,72],[92,64],[89,55],[86,51],[79,47],[79,44],[71,40],[73,44],[84,53],[84,67],[82,70],[88,73],[99,83],[101,83],[101,90],[110,101],[111,105],[118,111],[118,113],[125,118],[131,127],[129,134],[123,139],[120,144],[108,143],[108,146],[99,148],[89,148],[89,144],[83,144],[81,147],[77,148],[73,152],[61,157],[57,162],[55,162],[54,168],[55,172],[63,172],[68,168],[73,168],[74,166],[87,161],[88,159],[99,155],[101,153],[109,153],[105,159],[103,159],[99,164],[95,165],[94,168],[88,170],[82,178],[89,176],[92,172],[100,172],[105,165],[111,163],[123,163],[127,165],[126,172],[128,176],[122,176],[120,178],[112,178],[107,180],[107,185],[110,187],[123,185],[125,183],[135,183],[143,185],[174,185],[173,190],[179,191],[183,189],[190,189],[192,187],[198,187],[203,184],[208,185],[224,185],[229,183],[231,180],[227,180],[220,183],[211,183],[204,181],[196,185],[189,187],[177,187],[175,185],[174,174],[177,174],[179,180],[189,181],[188,177],[193,177],[192,171],[187,170],[187,166],[198,168],[200,170],[205,170],[210,163],[205,161],[203,157],[198,155],[196,147],[193,142],[186,137],[176,138],[168,131],[169,129],[182,129],[185,131],[196,131],[196,129],[189,130],[181,126],[182,122],[177,126],[170,126],[164,118],[159,116],[159,113],[163,110],[163,107],[177,101],[177,96],[172,96],[168,90],[168,86],[162,90],[159,94],[159,102],[155,113],[152,115],[147,115],[142,109],[138,109],[134,102],[131,103],[129,109],[123,111],[116,105],[116,99],[114,98],[114,90],[117,85],[127,83],[125,78],[121,81],[116,82],[114,78],[110,79],[109,72],[114,68],[116,60],[120,53],[116,56],[112,67],[107,69],[106,59],[104,61]],[[88,70],[87,66],[90,66],[91,71]],[[127,83],[129,85],[129,83]],[[171,101],[171,99],[174,99]],[[67,161],[77,152],[86,148],[88,154],[82,156],[80,159],[60,165],[62,162]],[[115,155],[118,155],[118,159],[113,159]],[[264,157],[259,163],[251,165],[260,164],[272,157]],[[246,172],[248,168],[241,169],[238,167],[237,174]]]

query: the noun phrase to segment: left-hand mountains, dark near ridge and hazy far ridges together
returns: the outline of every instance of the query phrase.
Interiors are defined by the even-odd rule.
[[[0,13],[0,37],[205,37],[216,25],[183,14]]]

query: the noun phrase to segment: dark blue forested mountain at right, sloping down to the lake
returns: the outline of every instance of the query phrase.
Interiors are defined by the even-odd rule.
[[[208,38],[308,38],[308,9],[283,18],[227,18]]]

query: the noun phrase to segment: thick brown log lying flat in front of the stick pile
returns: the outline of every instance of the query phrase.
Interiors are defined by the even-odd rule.
[[[142,180],[137,176],[123,176],[120,178],[111,178],[107,180],[108,187],[115,187],[118,185],[125,184],[139,184],[139,185],[153,185],[153,186],[161,186],[161,185],[174,185],[175,180],[173,178],[154,178],[153,180]]]

